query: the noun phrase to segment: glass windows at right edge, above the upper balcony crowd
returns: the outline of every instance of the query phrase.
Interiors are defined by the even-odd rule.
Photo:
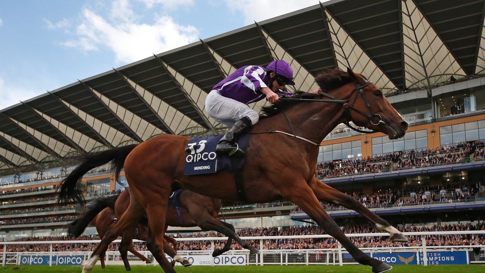
[[[485,120],[439,127],[441,146],[485,140]]]

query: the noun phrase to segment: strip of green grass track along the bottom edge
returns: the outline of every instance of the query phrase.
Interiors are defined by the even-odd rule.
[[[412,273],[475,273],[485,272],[485,265],[394,265],[394,269],[388,271],[390,273],[398,272],[412,272]],[[125,272],[123,266],[106,266],[102,270],[101,266],[96,266],[91,272],[108,273],[108,272]],[[132,266],[132,272],[162,272],[158,266]],[[277,273],[294,273],[294,272],[333,272],[333,273],[371,273],[371,267],[362,265],[247,265],[247,266],[192,266],[191,268],[176,267],[177,272],[238,272],[238,273],[253,273],[253,272],[277,272]],[[43,273],[43,272],[81,272],[79,266],[46,266],[46,265],[20,265],[15,266],[0,266],[0,273],[15,273],[15,272],[29,272],[29,273]]]

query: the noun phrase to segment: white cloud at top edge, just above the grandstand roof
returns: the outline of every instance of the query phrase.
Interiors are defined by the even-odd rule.
[[[328,1],[328,0],[326,0]],[[325,1],[322,1],[325,2]],[[235,13],[242,13],[244,24],[250,25],[269,18],[283,15],[295,10],[319,4],[318,0],[239,0],[237,5],[233,0],[225,0],[227,7]]]

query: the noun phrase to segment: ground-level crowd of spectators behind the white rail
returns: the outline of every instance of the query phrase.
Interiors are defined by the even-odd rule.
[[[401,231],[460,231],[460,230],[485,230],[485,222],[476,224],[453,224],[453,225],[432,225],[432,226],[400,226]],[[374,233],[380,232],[374,225],[352,224],[342,228],[345,233]],[[243,228],[237,231],[240,237],[246,236],[304,236],[325,234],[324,230],[318,226],[290,226],[290,227],[269,227],[269,228]],[[200,237],[225,237],[220,233],[206,232],[191,235],[182,235],[178,238],[200,238]],[[91,240],[93,237],[82,236],[74,240]],[[351,240],[358,247],[399,247],[399,246],[420,246],[420,236],[409,236],[408,242],[390,242],[389,237],[352,237]],[[65,241],[72,240],[65,237],[43,237],[43,238],[23,238],[17,241]],[[249,244],[259,248],[259,240],[248,240]],[[222,248],[225,241],[215,241],[216,248]],[[428,246],[448,246],[448,245],[485,245],[483,235],[428,235],[426,236]],[[92,251],[95,243],[69,243],[54,244],[54,251]],[[337,248],[337,241],[334,238],[306,238],[306,239],[278,239],[265,240],[264,249],[324,249]],[[137,250],[147,250],[145,243],[135,243]],[[242,249],[237,243],[232,243],[231,249]],[[47,251],[48,244],[22,244],[9,245],[7,251]],[[179,250],[211,250],[209,241],[179,241]],[[118,245],[111,244],[110,251],[117,251]]]

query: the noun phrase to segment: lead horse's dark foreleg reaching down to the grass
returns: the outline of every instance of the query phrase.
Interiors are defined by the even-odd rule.
[[[281,194],[286,200],[297,204],[308,216],[315,220],[325,232],[337,239],[343,247],[354,257],[354,259],[361,264],[372,266],[373,272],[384,272],[392,269],[390,265],[383,263],[377,259],[365,255],[359,248],[357,248],[343,233],[335,221],[328,216],[318,202],[317,197],[312,189],[306,185],[305,181],[295,184],[295,187],[286,185],[285,188],[280,189]]]

